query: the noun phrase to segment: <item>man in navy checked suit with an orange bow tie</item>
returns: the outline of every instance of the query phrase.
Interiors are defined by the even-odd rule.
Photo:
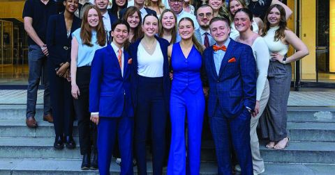
[[[253,174],[249,133],[251,109],[256,102],[253,51],[229,38],[228,19],[214,17],[209,28],[216,44],[204,51],[203,64],[209,83],[208,115],[218,174],[232,174],[231,145],[241,174]]]

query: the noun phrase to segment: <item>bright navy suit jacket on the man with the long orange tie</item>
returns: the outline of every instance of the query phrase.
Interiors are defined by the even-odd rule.
[[[130,58],[126,51],[123,54],[124,76],[121,75],[117,55],[110,44],[94,54],[89,83],[91,113],[99,112],[101,117],[133,117],[131,66],[128,64]]]

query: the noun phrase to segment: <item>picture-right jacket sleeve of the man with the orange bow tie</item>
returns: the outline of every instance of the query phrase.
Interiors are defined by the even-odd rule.
[[[254,109],[256,103],[256,62],[251,47],[246,46],[240,63],[244,106]]]

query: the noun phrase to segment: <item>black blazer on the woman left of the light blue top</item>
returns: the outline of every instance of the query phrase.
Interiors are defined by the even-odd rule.
[[[47,51],[48,60],[58,67],[61,63],[71,61],[72,33],[80,28],[82,20],[73,16],[70,37],[67,36],[64,13],[52,15],[47,23]]]

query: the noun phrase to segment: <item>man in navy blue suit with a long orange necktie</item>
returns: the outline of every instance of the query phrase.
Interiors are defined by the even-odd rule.
[[[98,125],[98,167],[110,174],[112,151],[118,135],[121,174],[133,174],[133,103],[131,101],[131,61],[124,50],[130,27],[124,21],[112,25],[112,43],[99,49],[91,65],[89,110]]]

